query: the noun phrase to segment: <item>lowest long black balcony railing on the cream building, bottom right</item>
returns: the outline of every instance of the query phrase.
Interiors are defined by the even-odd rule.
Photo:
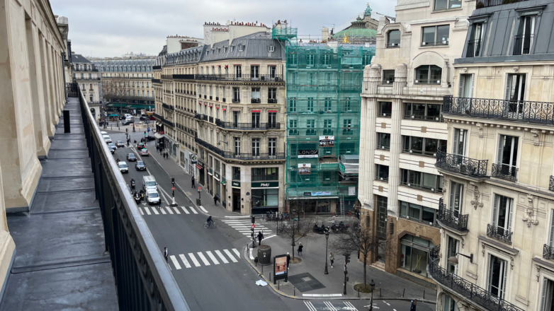
[[[461,278],[456,274],[439,266],[439,247],[434,247],[429,252],[429,264],[427,271],[441,286],[451,288],[454,293],[460,297],[470,300],[477,305],[484,307],[489,311],[524,311],[502,298],[498,298],[485,288],[480,288],[470,281]]]

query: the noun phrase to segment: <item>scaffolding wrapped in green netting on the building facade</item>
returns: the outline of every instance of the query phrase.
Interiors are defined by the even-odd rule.
[[[334,199],[344,211],[343,200],[353,206],[357,199],[351,164],[359,152],[363,69],[375,47],[289,43],[286,53],[287,199]],[[339,161],[342,155],[349,156]]]

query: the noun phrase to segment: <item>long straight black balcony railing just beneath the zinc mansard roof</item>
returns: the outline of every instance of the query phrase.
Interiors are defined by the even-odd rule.
[[[443,114],[554,124],[554,102],[445,96]]]

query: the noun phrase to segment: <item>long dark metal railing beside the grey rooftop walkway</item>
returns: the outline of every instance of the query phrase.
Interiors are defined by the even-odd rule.
[[[67,86],[77,88],[77,83]],[[89,105],[77,88],[86,146],[120,306],[127,310],[189,310],[162,250],[137,211]],[[71,93],[74,94],[73,92]]]

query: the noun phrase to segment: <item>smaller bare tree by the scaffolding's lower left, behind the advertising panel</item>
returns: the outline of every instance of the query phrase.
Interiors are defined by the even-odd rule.
[[[300,219],[300,214],[304,211],[305,202],[303,200],[295,200],[294,204],[290,204],[290,213],[288,223],[283,223],[280,233],[286,235],[290,238],[290,247],[293,247],[293,258],[294,258],[294,247],[296,242],[300,239],[310,239],[313,236],[314,223],[307,219]]]

